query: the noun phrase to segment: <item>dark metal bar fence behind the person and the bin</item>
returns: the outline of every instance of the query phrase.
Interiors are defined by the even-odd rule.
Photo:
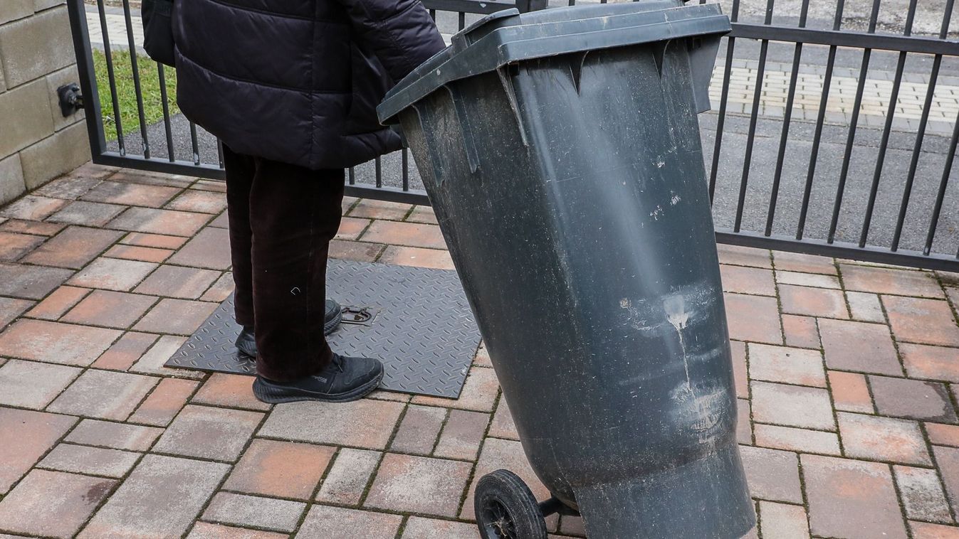
[[[700,115],[717,240],[959,271],[955,0],[721,1],[733,32]],[[447,35],[493,11],[558,6],[424,4]],[[94,161],[222,178],[219,143],[171,108],[170,70],[128,56],[129,0],[69,9]],[[347,192],[429,204],[405,150],[350,169]]]

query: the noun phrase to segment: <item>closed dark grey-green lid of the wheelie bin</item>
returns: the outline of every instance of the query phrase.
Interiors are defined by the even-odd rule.
[[[497,11],[454,35],[452,45],[401,80],[377,113],[384,124],[396,124],[397,114],[444,84],[522,60],[729,31],[718,4],[686,6],[682,0]]]

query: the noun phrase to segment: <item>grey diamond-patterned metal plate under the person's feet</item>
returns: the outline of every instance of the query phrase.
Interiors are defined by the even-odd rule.
[[[456,272],[331,259],[327,294],[376,314],[368,326],[340,325],[328,340],[343,355],[383,361],[381,388],[459,396],[479,346],[479,329]],[[239,331],[231,295],[166,365],[252,375],[253,362],[233,345]]]

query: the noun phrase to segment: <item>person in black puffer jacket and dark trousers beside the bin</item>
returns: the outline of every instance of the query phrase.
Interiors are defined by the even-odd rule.
[[[177,0],[176,101],[220,138],[237,347],[264,402],[355,400],[383,378],[324,334],[343,168],[400,149],[376,106],[445,48],[419,0]]]

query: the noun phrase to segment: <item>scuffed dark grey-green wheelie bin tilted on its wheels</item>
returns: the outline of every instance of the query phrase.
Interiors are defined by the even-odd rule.
[[[730,23],[642,0],[501,11],[401,81],[401,124],[552,498],[479,481],[483,537],[728,538],[755,517],[696,114]]]

